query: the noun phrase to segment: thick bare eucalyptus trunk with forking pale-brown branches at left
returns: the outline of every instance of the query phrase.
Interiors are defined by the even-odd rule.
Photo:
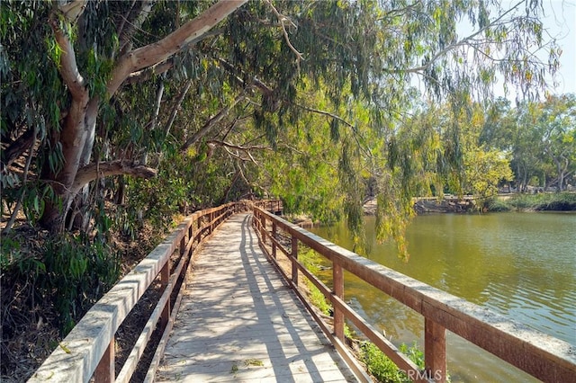
[[[121,55],[106,86],[107,97],[112,97],[132,73],[164,62],[178,51],[202,40],[214,25],[224,20],[246,2],[247,0],[220,0],[192,21],[186,22],[182,27],[168,34],[164,39]],[[79,5],[84,4],[84,2],[77,3]],[[79,13],[70,17],[71,22],[76,22],[77,17],[84,9],[79,5],[77,7]],[[80,197],[81,200],[76,201],[78,206],[82,208],[87,201],[88,183],[105,174],[105,172],[99,173],[102,172],[102,169],[98,169],[98,166],[102,167],[102,164],[95,165],[95,171],[92,168],[88,169],[92,166],[89,164],[94,147],[96,120],[102,100],[98,96],[90,98],[85,79],[77,67],[72,41],[66,32],[60,28],[57,13],[50,15],[49,24],[58,42],[58,47],[62,51],[58,71],[70,93],[71,104],[67,113],[62,113],[67,115],[62,130],[55,132],[54,137],[51,138],[54,145],[61,145],[62,169],[56,174],[50,168],[49,164],[53,164],[54,160],[45,161],[44,169],[42,169],[43,179],[52,186],[58,200],[46,201],[44,212],[40,218],[40,225],[52,231],[61,231],[64,229],[65,218],[78,192],[84,189]],[[53,147],[51,150],[46,156],[53,156]],[[46,159],[48,160],[48,158]],[[148,176],[153,173],[148,168],[136,169],[136,166],[130,167],[121,162],[112,162],[109,165],[109,175],[132,174],[142,176],[144,174],[144,176]],[[81,168],[87,170],[78,174],[78,170]],[[83,220],[86,221],[86,219]]]

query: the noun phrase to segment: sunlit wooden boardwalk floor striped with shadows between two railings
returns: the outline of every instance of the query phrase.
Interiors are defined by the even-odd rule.
[[[356,378],[238,214],[197,254],[157,371],[160,382],[352,382]]]

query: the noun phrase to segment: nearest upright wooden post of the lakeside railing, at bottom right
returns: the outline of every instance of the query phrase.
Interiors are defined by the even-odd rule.
[[[446,382],[446,328],[424,318],[424,364],[429,379]]]

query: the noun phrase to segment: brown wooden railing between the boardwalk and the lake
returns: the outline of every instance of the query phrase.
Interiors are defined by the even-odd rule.
[[[320,327],[334,343],[356,375],[368,381],[364,370],[355,363],[344,339],[345,321],[380,348],[414,381],[446,381],[446,329],[477,344],[503,361],[546,382],[574,381],[576,377],[576,347],[551,336],[536,332],[508,318],[491,313],[439,289],[416,281],[400,272],[374,263],[329,241],[307,232],[282,218],[255,208],[253,224],[260,245],[277,269],[309,307]],[[287,238],[287,240],[282,240]],[[299,244],[306,245],[332,263],[333,289],[307,270],[298,261]],[[278,255],[284,254],[291,267],[284,270]],[[347,305],[344,299],[343,270],[373,285],[424,316],[425,370],[402,354],[383,334]],[[329,325],[307,301],[299,274],[308,278],[324,294],[334,309],[333,325]],[[364,378],[363,378],[364,377]]]

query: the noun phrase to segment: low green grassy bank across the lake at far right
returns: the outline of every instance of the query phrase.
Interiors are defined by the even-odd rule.
[[[511,194],[488,203],[490,211],[576,211],[576,193]]]

